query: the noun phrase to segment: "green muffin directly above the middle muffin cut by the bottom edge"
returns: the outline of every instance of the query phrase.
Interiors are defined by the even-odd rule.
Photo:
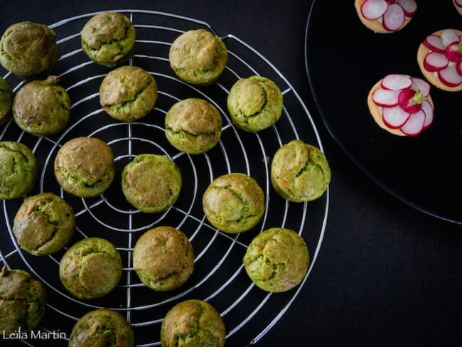
[[[122,258],[108,240],[87,237],[64,253],[59,277],[65,289],[79,299],[102,297],[119,284]]]

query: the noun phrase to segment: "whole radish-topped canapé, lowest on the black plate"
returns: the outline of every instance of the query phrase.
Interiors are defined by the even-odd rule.
[[[399,136],[415,137],[434,119],[429,82],[408,75],[382,78],[367,95],[367,106],[382,129]]]

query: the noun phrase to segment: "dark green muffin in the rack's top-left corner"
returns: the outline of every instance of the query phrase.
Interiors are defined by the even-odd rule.
[[[45,77],[58,62],[55,32],[40,23],[14,23],[0,38],[0,64],[21,78]]]

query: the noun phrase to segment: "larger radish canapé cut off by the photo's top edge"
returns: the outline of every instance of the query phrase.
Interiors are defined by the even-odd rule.
[[[417,11],[415,0],[355,0],[362,23],[376,33],[394,33],[411,21]]]

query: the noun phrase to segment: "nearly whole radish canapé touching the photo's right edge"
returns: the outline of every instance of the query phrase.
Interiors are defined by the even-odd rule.
[[[462,90],[462,31],[444,29],[426,36],[417,50],[417,62],[435,87]]]

